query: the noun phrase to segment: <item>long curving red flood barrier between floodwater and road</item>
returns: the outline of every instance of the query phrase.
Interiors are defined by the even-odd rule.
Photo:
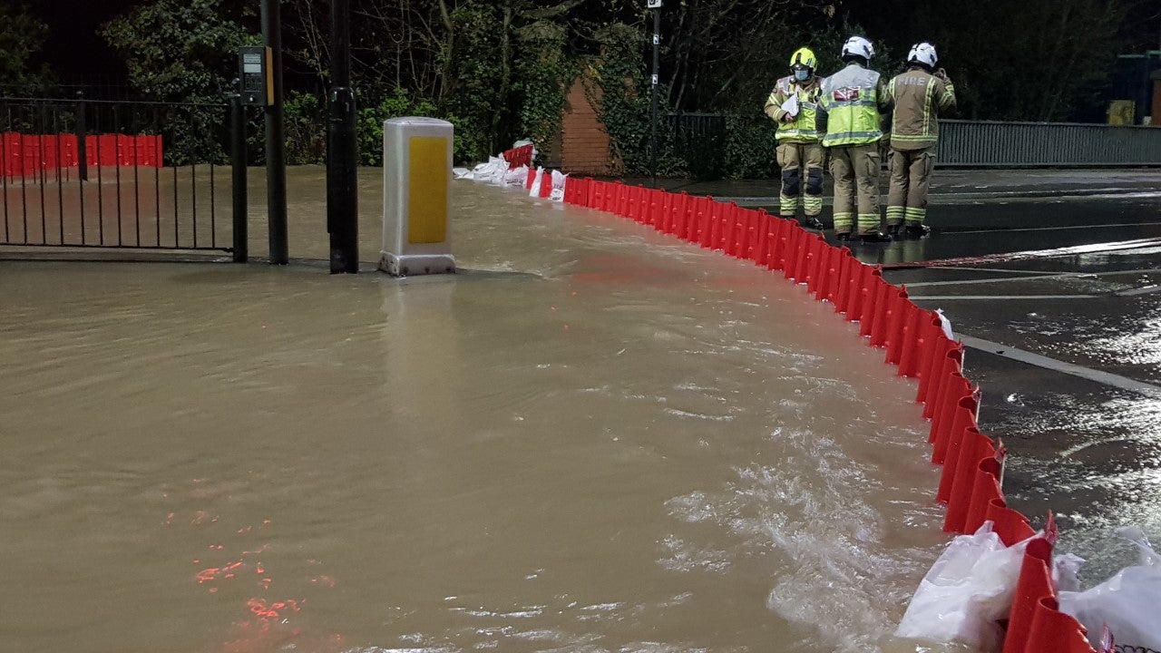
[[[936,498],[947,505],[944,530],[971,533],[990,519],[1007,546],[1036,534],[1027,517],[1004,500],[1005,451],[979,430],[979,387],[964,375],[962,343],[950,338],[940,316],[917,307],[906,288],[885,281],[880,267],[828,244],[796,220],[713,198],[569,178],[564,202],[614,213],[751,260],[806,286],[815,300],[834,303],[836,313],[859,323],[859,335],[870,346],[885,350],[885,361],[897,366],[899,375],[918,379],[916,401],[931,421],[931,459],[943,465]],[[1046,530],[1051,534],[1032,539],[1025,551],[1003,653],[1095,653],[1080,623],[1058,609],[1051,580],[1055,541],[1051,515]]]

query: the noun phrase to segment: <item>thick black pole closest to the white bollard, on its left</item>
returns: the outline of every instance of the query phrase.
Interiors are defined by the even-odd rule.
[[[351,88],[351,0],[331,0],[331,94],[326,129],[326,231],[331,274],[359,272],[355,94]]]

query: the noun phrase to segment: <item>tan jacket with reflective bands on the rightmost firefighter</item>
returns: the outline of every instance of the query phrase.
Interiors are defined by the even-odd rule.
[[[896,76],[887,85],[895,105],[890,121],[890,146],[923,150],[939,141],[938,114],[956,106],[956,87],[923,69]]]

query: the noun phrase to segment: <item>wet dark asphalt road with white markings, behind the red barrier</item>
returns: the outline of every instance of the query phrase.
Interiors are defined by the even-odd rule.
[[[673,189],[777,210],[770,182]],[[853,249],[950,317],[1009,504],[1036,526],[1052,510],[1101,582],[1135,561],[1115,526],[1161,539],[1161,171],[937,170],[928,224]]]

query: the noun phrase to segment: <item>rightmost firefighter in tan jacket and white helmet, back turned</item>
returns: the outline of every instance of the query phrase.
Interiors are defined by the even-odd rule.
[[[938,60],[933,45],[917,43],[907,55],[907,71],[887,85],[895,109],[887,159],[887,231],[892,236],[922,238],[928,234],[923,221],[939,139],[938,115],[956,106],[956,87],[943,69],[936,70]]]

